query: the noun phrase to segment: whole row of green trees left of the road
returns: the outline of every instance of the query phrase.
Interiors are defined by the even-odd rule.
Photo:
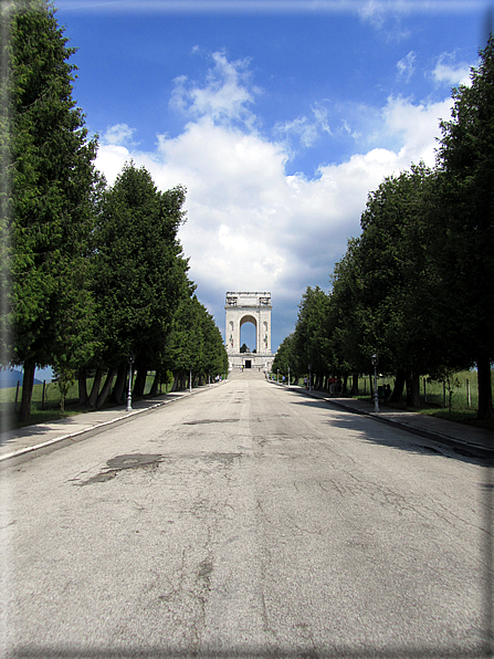
[[[160,191],[134,163],[107,187],[94,167],[97,137],[72,97],[74,49],[49,2],[14,0],[2,30],[2,363],[23,366],[21,419],[36,366],[53,366],[62,391],[78,375],[81,404],[97,407],[109,395],[120,400],[130,353],[138,395],[148,370],[156,390],[182,369],[178,343],[195,373],[224,373],[221,335],[192,297],[178,240],[185,188]],[[182,312],[190,318],[180,324]]]

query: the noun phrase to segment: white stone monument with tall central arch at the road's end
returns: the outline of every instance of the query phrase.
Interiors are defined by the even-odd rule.
[[[225,345],[230,370],[255,368],[271,370],[274,355],[271,353],[271,293],[227,293]],[[240,330],[245,323],[255,326],[255,352],[240,352]]]

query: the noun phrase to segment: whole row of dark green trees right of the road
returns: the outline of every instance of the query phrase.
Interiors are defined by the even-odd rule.
[[[451,375],[476,363],[479,417],[492,418],[494,360],[494,38],[481,51],[471,86],[453,91],[434,170],[422,164],[369,193],[361,234],[332,275],[328,295],[308,287],[291,363],[345,377],[397,374],[399,398],[420,405],[419,376]],[[282,365],[287,346],[278,352]]]

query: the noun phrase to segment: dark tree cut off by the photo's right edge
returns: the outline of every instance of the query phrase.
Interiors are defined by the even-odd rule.
[[[453,90],[452,118],[441,123],[435,263],[441,316],[450,342],[479,367],[480,418],[494,418],[494,36],[480,52],[471,85]]]

